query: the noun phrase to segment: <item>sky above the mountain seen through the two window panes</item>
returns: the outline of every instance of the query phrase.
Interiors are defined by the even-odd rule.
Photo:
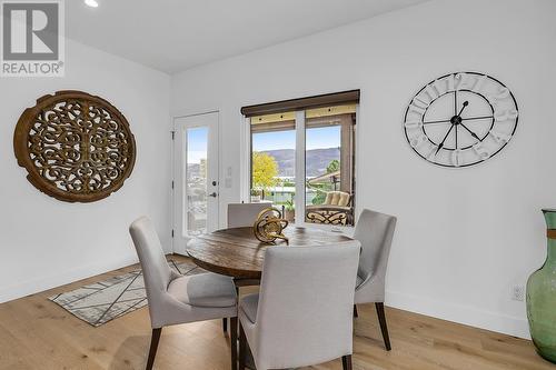
[[[322,149],[340,147],[340,127],[322,127],[308,129],[306,132],[306,149]],[[252,136],[252,150],[296,149],[296,131],[278,131],[255,133]]]

